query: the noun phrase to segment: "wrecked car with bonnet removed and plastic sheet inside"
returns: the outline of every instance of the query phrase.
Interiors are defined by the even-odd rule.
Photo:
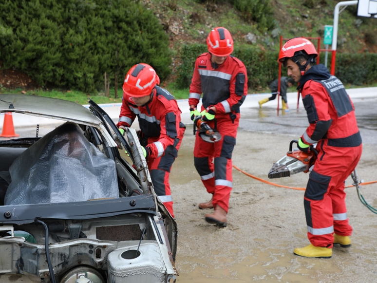
[[[123,137],[92,100],[1,94],[9,112],[58,126],[0,138],[0,282],[175,282],[177,226],[136,132]]]

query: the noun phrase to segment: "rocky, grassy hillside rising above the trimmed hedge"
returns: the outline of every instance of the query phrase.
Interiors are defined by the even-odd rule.
[[[263,49],[278,50],[280,35],[323,40],[324,26],[333,24],[334,8],[339,1],[269,0],[274,28],[262,31],[258,22],[243,20],[243,13],[231,4],[235,0],[141,2],[160,19],[170,35],[174,53],[182,43],[205,43],[208,32],[216,26],[229,29],[238,44],[257,44]],[[377,20],[357,17],[357,5],[347,6],[339,15],[338,51],[376,53]]]

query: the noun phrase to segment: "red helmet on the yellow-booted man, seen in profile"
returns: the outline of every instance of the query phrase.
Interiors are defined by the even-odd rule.
[[[292,58],[301,54],[309,55],[311,59],[318,57],[318,52],[310,40],[306,38],[291,38],[284,43],[280,50],[278,62],[283,63],[285,58]]]

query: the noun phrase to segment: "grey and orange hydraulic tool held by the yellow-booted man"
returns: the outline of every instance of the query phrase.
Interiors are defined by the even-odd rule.
[[[289,151],[283,158],[274,163],[271,170],[268,172],[268,178],[289,177],[300,172],[307,173],[310,167],[314,165],[318,151],[313,146],[310,146],[309,152],[300,150],[292,151],[293,143],[297,144],[298,141],[292,140],[289,143]]]

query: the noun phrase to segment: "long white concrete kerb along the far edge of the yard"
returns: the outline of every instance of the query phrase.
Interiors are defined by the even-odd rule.
[[[359,99],[359,98],[366,98],[366,97],[376,97],[377,96],[377,87],[374,88],[358,88],[358,89],[347,89],[347,93],[350,95],[352,100]],[[241,105],[241,109],[243,108],[259,108],[258,101],[271,96],[270,93],[263,93],[263,94],[247,94],[244,103]],[[296,109],[297,107],[297,100],[298,94],[295,93],[287,93],[287,100],[290,109]],[[95,101],[95,99],[94,99]],[[178,106],[182,111],[181,120],[186,125],[192,124],[192,121],[189,117],[189,107],[188,107],[188,99],[179,99],[177,100]],[[279,102],[280,107],[282,106],[281,101]],[[83,105],[86,108],[89,108],[89,105]],[[114,121],[117,121],[120,113],[121,103],[108,103],[108,104],[100,104],[99,105]],[[201,106],[201,103],[198,105]],[[277,107],[277,99],[274,100],[274,103],[270,103],[269,105],[264,105],[264,108],[276,108]],[[302,108],[302,100],[299,100],[299,107]],[[47,119],[41,118],[36,116],[28,116],[25,119],[23,114],[13,113],[13,124],[15,129],[17,128],[27,128],[27,127],[35,127],[37,123],[40,126],[42,125],[59,125],[62,122],[60,120],[54,119]],[[4,121],[4,113],[0,113],[0,132],[3,127]],[[135,121],[132,125],[132,128],[137,127],[137,121]]]

